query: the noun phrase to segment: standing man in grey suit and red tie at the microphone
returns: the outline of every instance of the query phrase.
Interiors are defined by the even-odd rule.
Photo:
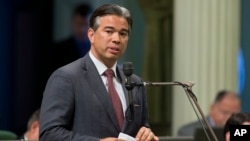
[[[93,12],[88,30],[90,52],[57,69],[48,80],[40,141],[122,141],[118,138],[121,132],[139,141],[159,140],[149,128],[144,87],[132,90],[134,117],[126,118],[128,91],[117,60],[126,50],[131,28],[132,19],[124,7],[105,4]],[[107,72],[114,72],[111,80]],[[131,81],[141,79],[132,75]]]

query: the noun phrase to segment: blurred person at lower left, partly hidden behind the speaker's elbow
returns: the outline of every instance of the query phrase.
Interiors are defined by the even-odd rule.
[[[40,116],[40,109],[36,110],[30,117],[28,124],[27,124],[27,131],[24,133],[21,140],[39,140],[39,116]]]

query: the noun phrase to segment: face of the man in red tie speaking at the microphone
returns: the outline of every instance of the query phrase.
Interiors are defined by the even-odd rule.
[[[91,52],[107,67],[112,67],[125,52],[129,38],[129,25],[125,18],[116,15],[100,17],[96,31],[89,29]]]

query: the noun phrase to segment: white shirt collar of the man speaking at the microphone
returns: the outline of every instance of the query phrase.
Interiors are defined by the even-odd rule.
[[[99,61],[93,54],[92,52],[90,51],[89,52],[89,57],[91,58],[91,60],[94,62],[96,68],[97,68],[97,71],[99,73],[99,75],[103,75],[103,73],[108,69],[101,61]],[[117,62],[112,66],[112,69],[115,73],[115,77],[117,76],[116,74],[116,66],[117,66]],[[117,78],[117,77],[116,77]]]

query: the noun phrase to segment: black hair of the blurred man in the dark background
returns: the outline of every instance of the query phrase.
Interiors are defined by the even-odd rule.
[[[88,16],[92,12],[92,7],[87,3],[81,3],[74,9],[73,15],[81,15],[82,17]]]

